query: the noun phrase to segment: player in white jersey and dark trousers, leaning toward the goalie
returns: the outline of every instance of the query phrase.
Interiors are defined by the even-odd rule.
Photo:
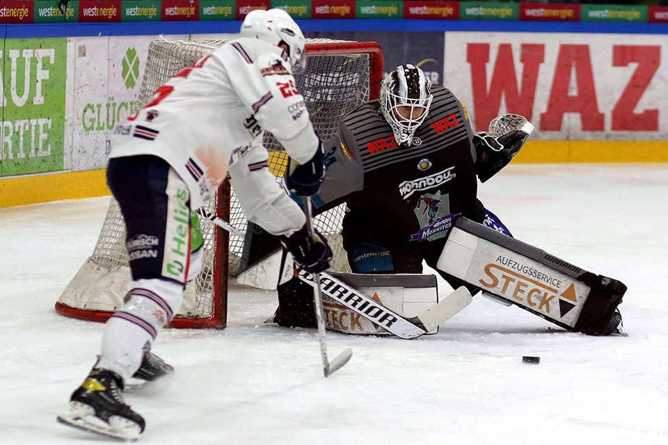
[[[292,72],[305,63],[294,20],[283,10],[253,11],[241,38],[170,79],[113,130],[107,180],[127,225],[132,289],[104,326],[97,362],[58,421],[119,439],[144,430],[121,391],[131,376],[154,380],[173,371],[150,348],[201,266],[201,253],[190,254],[191,210],[228,175],[248,220],[278,236],[305,270],[328,268],[326,239],[310,237],[262,146],[264,130],[271,131],[290,156],[289,188],[317,191],[324,177],[320,140],[308,113],[287,112],[303,108]]]

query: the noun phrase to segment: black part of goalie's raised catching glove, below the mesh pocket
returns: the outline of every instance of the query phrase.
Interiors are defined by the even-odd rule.
[[[475,170],[480,182],[496,175],[520,151],[529,135],[521,130],[511,131],[494,138],[487,133],[473,136],[473,145],[477,152]]]

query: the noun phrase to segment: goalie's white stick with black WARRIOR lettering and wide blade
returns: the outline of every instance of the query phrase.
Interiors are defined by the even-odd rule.
[[[223,227],[223,229],[232,227],[230,223],[218,216],[208,212],[207,215],[205,215],[205,218],[209,218],[210,216],[209,220]],[[298,276],[303,282],[314,286],[312,274],[305,270],[299,270]],[[448,318],[457,314],[471,302],[471,294],[466,287],[462,286],[417,317],[404,318],[380,305],[373,298],[326,272],[320,273],[320,280],[321,291],[324,295],[340,302],[345,307],[352,309],[367,320],[376,323],[376,325],[383,327],[383,329],[401,339],[415,339],[423,334],[427,334],[427,332],[447,321]]]

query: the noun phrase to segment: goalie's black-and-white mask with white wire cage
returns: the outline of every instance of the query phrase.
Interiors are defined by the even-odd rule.
[[[413,65],[401,65],[381,83],[381,111],[392,127],[397,144],[413,143],[413,134],[422,125],[431,105],[431,81]]]

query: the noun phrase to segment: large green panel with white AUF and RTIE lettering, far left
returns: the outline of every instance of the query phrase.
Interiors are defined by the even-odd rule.
[[[63,170],[67,38],[7,39],[0,176]]]

